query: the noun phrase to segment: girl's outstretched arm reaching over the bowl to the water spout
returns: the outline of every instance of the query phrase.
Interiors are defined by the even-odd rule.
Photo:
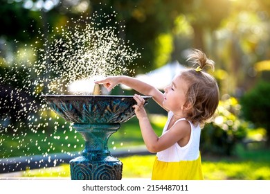
[[[104,85],[108,91],[111,91],[116,85],[123,84],[127,87],[131,87],[132,89],[138,91],[139,93],[145,96],[152,96],[152,98],[163,107],[163,94],[159,89],[156,89],[152,85],[149,85],[141,80],[136,78],[132,78],[129,76],[109,76],[105,79],[98,80],[95,82],[96,84]]]

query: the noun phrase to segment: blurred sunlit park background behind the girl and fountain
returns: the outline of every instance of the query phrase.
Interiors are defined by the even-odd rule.
[[[28,52],[26,45],[35,44],[40,32],[44,39],[49,39],[57,35],[53,28],[83,26],[85,23],[80,24],[80,19],[97,12],[99,15],[115,15],[109,24],[104,25],[120,28],[118,36],[124,40],[123,44],[141,53],[141,57],[127,67],[134,69],[129,76],[152,72],[175,61],[188,66],[186,53],[190,48],[201,49],[214,60],[215,71],[209,73],[219,84],[220,103],[213,121],[201,131],[205,178],[270,179],[268,0],[0,2],[0,161],[57,153],[72,156],[82,150],[80,135],[62,118],[55,121],[56,116],[50,110],[48,114],[52,115],[52,121],[46,121],[39,130],[33,132],[30,125],[21,125],[23,118],[18,122],[12,114],[13,109],[20,108],[21,102],[13,106],[17,98],[9,94],[21,87],[19,91],[25,95],[35,93],[25,99],[39,102],[38,96],[44,92],[43,89],[33,86],[30,92],[24,91],[21,83],[26,79],[26,73],[18,73],[27,71],[25,67],[29,60],[38,58],[38,53]],[[46,49],[44,44],[37,46]],[[18,64],[21,63],[17,63],[19,51],[28,53],[23,59],[26,66],[20,67]],[[13,60],[6,60],[8,58]],[[14,75],[16,79],[4,79]],[[134,91],[117,87],[112,94],[132,95]],[[6,106],[7,101],[13,103]],[[153,101],[146,108],[156,134],[161,134],[165,112]],[[26,116],[24,123],[28,123],[28,118]],[[108,145],[111,150],[126,152],[141,148],[143,139],[136,118],[123,123],[120,130],[110,137]],[[154,155],[129,155],[120,157],[120,160],[124,164],[124,178],[150,178]],[[20,176],[69,177],[69,165],[37,170],[29,167],[22,170]]]

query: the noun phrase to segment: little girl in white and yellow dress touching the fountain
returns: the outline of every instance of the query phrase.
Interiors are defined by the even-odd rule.
[[[213,76],[202,71],[214,62],[194,50],[188,58],[197,68],[185,69],[165,87],[164,94],[145,82],[127,76],[107,77],[96,83],[108,91],[118,84],[127,85],[152,98],[168,111],[163,134],[157,136],[143,107],[145,100],[134,95],[135,113],[143,140],[150,152],[156,152],[152,179],[204,179],[201,170],[199,141],[201,125],[213,116],[219,103],[219,88]],[[164,75],[165,76],[165,75]]]

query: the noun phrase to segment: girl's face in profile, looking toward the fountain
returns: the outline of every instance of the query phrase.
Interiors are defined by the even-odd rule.
[[[164,88],[163,107],[177,114],[183,114],[186,104],[186,92],[188,91],[188,83],[181,78],[181,74],[174,77],[172,83]]]

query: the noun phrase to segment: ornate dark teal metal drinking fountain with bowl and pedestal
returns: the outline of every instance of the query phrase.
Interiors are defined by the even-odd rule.
[[[109,136],[132,118],[133,96],[44,95],[48,105],[66,121],[72,122],[84,138],[84,150],[71,159],[72,180],[119,180],[123,164],[111,156]],[[143,96],[145,105],[150,96]]]

